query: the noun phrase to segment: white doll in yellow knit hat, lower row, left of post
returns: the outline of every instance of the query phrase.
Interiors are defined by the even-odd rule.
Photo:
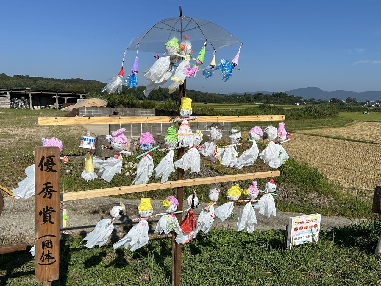
[[[141,199],[138,206],[138,211],[141,217],[138,224],[131,228],[122,239],[112,245],[114,249],[117,249],[119,246],[123,245],[125,248],[131,246],[131,251],[135,251],[148,243],[147,218],[150,217],[154,211],[151,206],[151,199]]]

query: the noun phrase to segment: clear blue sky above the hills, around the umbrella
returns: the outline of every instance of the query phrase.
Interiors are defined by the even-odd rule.
[[[188,89],[223,93],[309,86],[327,91],[381,90],[381,2],[239,3],[182,4],[183,16],[214,22],[244,43],[240,70],[231,79],[223,82],[216,72],[205,80],[199,73],[187,80]],[[21,0],[2,3],[2,12],[0,73],[105,82],[119,72],[131,39],[162,19],[179,16],[179,7],[160,1]],[[218,50],[216,61],[231,60],[238,48]],[[139,71],[154,63],[153,56],[139,52]],[[134,57],[133,51],[127,52],[125,70]],[[205,58],[208,64],[211,52]],[[138,80],[139,85],[146,82],[143,76]]]

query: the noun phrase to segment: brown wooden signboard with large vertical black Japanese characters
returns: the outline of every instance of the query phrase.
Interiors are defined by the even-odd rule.
[[[43,286],[59,278],[59,148],[34,149],[35,268]]]

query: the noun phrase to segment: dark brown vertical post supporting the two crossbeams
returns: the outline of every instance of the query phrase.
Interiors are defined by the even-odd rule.
[[[184,83],[179,86],[179,104],[181,103],[182,93],[185,90],[186,79]],[[178,149],[177,159],[181,159],[184,155],[184,148]],[[177,168],[177,179],[184,180],[184,170]],[[176,189],[176,199],[179,201],[179,206],[177,210],[182,210],[183,201],[183,187],[178,187]],[[179,224],[182,222],[182,214],[176,214],[176,218],[179,220]],[[176,243],[174,240],[176,238],[176,233],[172,232],[172,286],[180,286],[181,278],[181,244]]]

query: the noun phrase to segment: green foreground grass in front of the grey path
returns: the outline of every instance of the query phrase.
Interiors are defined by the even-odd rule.
[[[181,285],[380,285],[381,267],[373,255],[379,233],[377,220],[359,222],[321,230],[317,244],[283,251],[284,230],[249,234],[212,229],[182,245]],[[171,284],[170,238],[152,239],[135,252],[114,250],[115,236],[94,249],[83,247],[81,239],[61,239],[60,278],[53,286]],[[29,252],[0,255],[1,285],[38,285],[34,280]]]

